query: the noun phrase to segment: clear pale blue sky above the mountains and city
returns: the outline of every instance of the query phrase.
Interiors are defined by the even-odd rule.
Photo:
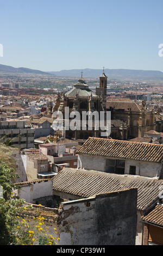
[[[162,0],[0,0],[0,64],[163,71]]]

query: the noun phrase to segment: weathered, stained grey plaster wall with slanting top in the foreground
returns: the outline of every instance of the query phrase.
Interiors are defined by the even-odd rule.
[[[137,189],[62,203],[59,245],[135,245]]]

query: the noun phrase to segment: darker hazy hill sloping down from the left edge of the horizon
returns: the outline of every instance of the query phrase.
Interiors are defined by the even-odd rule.
[[[22,74],[22,73],[28,73],[28,74],[40,74],[40,75],[49,75],[48,72],[43,72],[40,70],[35,69],[27,69],[27,68],[14,68],[13,66],[7,66],[0,64],[0,72],[3,73],[14,73],[14,74]]]

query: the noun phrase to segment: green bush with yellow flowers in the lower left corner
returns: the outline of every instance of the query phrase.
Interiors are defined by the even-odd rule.
[[[6,164],[0,166],[0,186],[3,197],[0,198],[0,245],[34,245],[40,242],[47,245],[57,244],[58,237],[53,237],[45,230],[42,216],[31,222],[24,220],[22,213],[31,210],[31,206],[24,206],[25,200],[14,197],[12,190],[20,188],[11,180],[19,178],[14,169]],[[35,217],[34,217],[35,219]],[[54,230],[54,233],[57,232]],[[42,237],[42,239],[41,239]]]

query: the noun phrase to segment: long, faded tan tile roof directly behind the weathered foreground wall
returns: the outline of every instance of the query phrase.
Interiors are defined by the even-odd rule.
[[[83,198],[137,188],[137,209],[142,211],[156,204],[162,185],[163,180],[73,168],[64,168],[53,178],[54,193],[59,191]]]

